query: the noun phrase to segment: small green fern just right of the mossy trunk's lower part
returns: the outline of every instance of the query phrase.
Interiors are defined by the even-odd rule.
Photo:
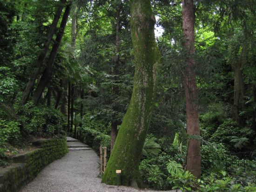
[[[146,139],[142,149],[142,154],[146,157],[149,155],[157,155],[161,152],[161,146],[155,142],[155,138]]]

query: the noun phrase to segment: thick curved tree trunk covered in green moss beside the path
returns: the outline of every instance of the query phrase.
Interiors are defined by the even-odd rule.
[[[132,0],[131,33],[136,64],[134,88],[102,178],[104,183],[110,185],[117,185],[117,169],[122,171],[122,185],[135,186],[141,181],[139,163],[154,106],[159,60],[154,25],[150,0]]]

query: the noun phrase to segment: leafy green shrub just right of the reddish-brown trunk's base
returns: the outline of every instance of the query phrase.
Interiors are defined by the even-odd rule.
[[[225,161],[228,158],[228,150],[218,143],[209,143],[201,147],[202,173],[211,173],[225,170]]]

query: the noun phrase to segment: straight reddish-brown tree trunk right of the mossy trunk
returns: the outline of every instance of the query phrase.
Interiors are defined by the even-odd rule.
[[[194,0],[182,0],[182,32],[184,47],[187,50],[184,70],[184,88],[186,96],[187,133],[200,136],[198,118],[198,94],[195,79],[195,14]],[[201,177],[201,144],[199,139],[189,138],[187,152],[187,170],[196,178]]]

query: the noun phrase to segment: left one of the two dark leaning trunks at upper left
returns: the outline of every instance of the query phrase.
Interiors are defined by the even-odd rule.
[[[57,27],[57,24],[58,24],[58,21],[61,17],[61,13],[62,13],[62,9],[64,8],[64,2],[66,0],[61,0],[61,4],[60,6],[57,8],[56,10],[56,13],[54,15],[54,20],[53,20],[53,23],[52,25],[50,26],[49,28],[49,31],[48,31],[48,34],[47,34],[47,38],[44,42],[44,45],[43,45],[43,48],[42,48],[42,51],[36,61],[36,67],[34,68],[34,71],[27,83],[27,86],[24,90],[24,93],[23,93],[23,97],[22,97],[22,104],[24,105],[25,103],[27,103],[27,100],[29,98],[29,94],[32,92],[33,90],[33,87],[34,87],[34,84],[35,84],[35,80],[40,72],[40,68],[43,64],[43,61],[45,59],[45,56],[46,56],[46,53],[48,51],[48,48],[49,48],[49,45],[50,45],[50,42],[54,36],[54,33],[56,31],[56,27]]]

